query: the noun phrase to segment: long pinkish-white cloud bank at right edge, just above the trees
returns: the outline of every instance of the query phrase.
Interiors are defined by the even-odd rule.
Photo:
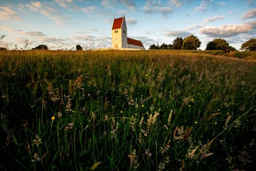
[[[201,34],[210,37],[231,37],[241,33],[251,33],[256,29],[256,20],[253,22],[242,23],[240,25],[222,25],[220,27],[202,27],[199,29]]]

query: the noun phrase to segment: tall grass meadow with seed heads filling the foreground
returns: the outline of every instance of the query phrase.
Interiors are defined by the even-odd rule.
[[[252,170],[256,61],[0,51],[1,170]]]

